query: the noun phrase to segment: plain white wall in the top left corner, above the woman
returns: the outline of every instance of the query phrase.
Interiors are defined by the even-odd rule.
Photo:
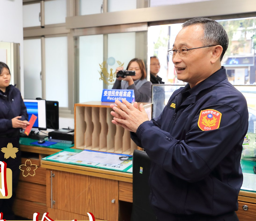
[[[20,92],[24,95],[22,0],[0,0],[0,41],[20,43]]]

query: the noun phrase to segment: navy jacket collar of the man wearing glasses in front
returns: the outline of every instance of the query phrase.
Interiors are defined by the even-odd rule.
[[[176,100],[178,100],[178,101],[182,100],[182,98],[181,98],[182,94],[186,92],[186,93],[190,93],[190,95],[187,97],[187,99],[184,102],[182,102],[181,105],[195,103],[197,94],[199,94],[201,91],[203,91],[207,88],[210,88],[210,87],[220,83],[221,81],[223,81],[226,78],[227,78],[227,72],[226,72],[225,67],[222,66],[218,71],[216,71],[214,74],[212,74],[211,76],[209,76],[208,78],[206,78],[204,81],[200,82],[193,88],[190,88],[190,85],[187,84],[181,90],[180,94],[177,95]],[[178,105],[178,106],[180,106],[180,105]]]

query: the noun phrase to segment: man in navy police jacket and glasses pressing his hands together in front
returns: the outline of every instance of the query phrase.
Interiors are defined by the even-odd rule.
[[[160,116],[149,121],[137,103],[111,105],[112,122],[130,130],[152,160],[150,202],[160,221],[238,220],[248,110],[220,63],[227,47],[222,25],[188,20],[168,50],[178,79],[188,84]]]

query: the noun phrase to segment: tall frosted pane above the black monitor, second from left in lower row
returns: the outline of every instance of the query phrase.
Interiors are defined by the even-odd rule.
[[[68,38],[45,38],[46,100],[68,107]]]

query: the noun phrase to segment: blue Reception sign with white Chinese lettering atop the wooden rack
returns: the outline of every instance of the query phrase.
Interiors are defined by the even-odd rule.
[[[125,99],[130,103],[135,102],[134,90],[103,89],[102,91],[102,102],[115,102],[115,100],[120,100],[122,102],[122,99]]]

